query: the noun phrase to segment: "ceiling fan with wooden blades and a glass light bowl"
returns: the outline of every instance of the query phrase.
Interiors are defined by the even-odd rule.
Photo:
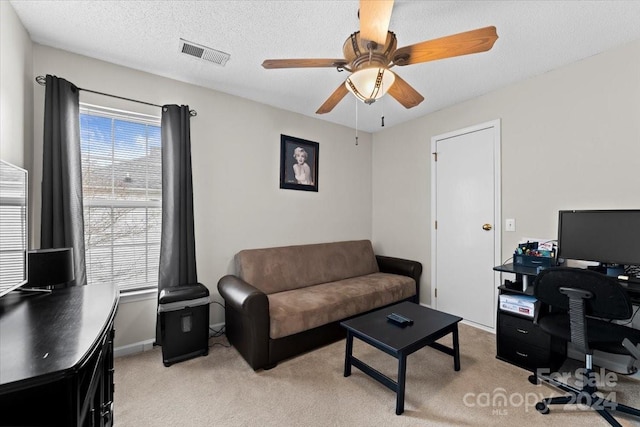
[[[360,31],[347,38],[344,58],[267,59],[262,66],[275,68],[335,67],[351,75],[320,106],[316,114],[328,113],[352,92],[366,104],[389,93],[405,108],[420,104],[424,97],[390,69],[490,50],[498,39],[496,28],[484,27],[397,48],[389,31],[393,0],[360,0]]]

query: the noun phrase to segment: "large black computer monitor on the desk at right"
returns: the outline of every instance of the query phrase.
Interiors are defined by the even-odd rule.
[[[562,210],[558,258],[640,265],[640,210]]]

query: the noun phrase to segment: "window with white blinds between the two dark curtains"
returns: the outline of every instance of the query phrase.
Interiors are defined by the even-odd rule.
[[[157,287],[160,118],[81,104],[80,146],[88,283]]]

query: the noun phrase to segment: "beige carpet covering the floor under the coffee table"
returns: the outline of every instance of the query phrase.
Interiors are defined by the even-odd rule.
[[[226,340],[212,339],[211,343]],[[450,338],[441,340],[450,345]],[[590,410],[554,407],[541,415],[535,402],[553,394],[527,381],[525,370],[495,358],[495,336],[460,325],[462,369],[432,348],[407,362],[405,412],[395,394],[353,368],[343,377],[344,340],[254,372],[234,348],[162,364],[161,350],[115,360],[116,426],[606,426]],[[354,354],[391,378],[397,361],[355,340]],[[578,365],[579,367],[579,365]],[[572,366],[570,369],[575,369]],[[569,369],[569,368],[565,368]],[[613,392],[640,405],[640,381],[618,376]],[[640,425],[618,417],[624,426]]]

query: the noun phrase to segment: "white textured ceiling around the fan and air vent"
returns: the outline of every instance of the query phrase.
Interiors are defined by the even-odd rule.
[[[354,127],[351,94],[315,111],[346,78],[331,68],[265,70],[267,58],[341,58],[358,1],[11,1],[34,42]],[[398,46],[494,25],[493,49],[396,67],[425,100],[360,103],[376,132],[640,39],[640,1],[397,0]],[[180,38],[231,54],[226,66],[179,53]],[[82,85],[81,82],[78,84]],[[100,88],[89,88],[100,90]],[[126,94],[119,94],[126,96]],[[197,105],[193,106],[197,109]]]

